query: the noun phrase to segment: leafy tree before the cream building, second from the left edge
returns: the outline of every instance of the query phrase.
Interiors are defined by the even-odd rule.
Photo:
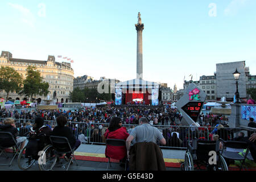
[[[20,94],[26,94],[26,96],[31,98],[31,101],[32,97],[36,95],[47,96],[49,84],[43,81],[40,72],[36,71],[36,67],[28,66],[26,75],[27,77],[23,81],[23,90]]]

